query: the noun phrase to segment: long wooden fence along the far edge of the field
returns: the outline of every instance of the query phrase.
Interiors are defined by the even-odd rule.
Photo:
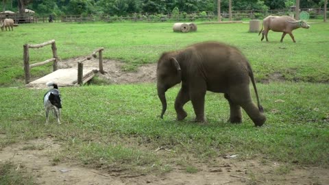
[[[324,8],[303,8],[300,12],[308,12],[310,18],[323,18]],[[206,14],[204,14],[206,13]],[[93,21],[145,21],[145,22],[191,22],[191,21],[217,21],[217,13],[214,12],[188,12],[173,15],[171,12],[168,14],[128,14],[126,16],[110,16],[108,14],[88,14],[88,15],[66,15],[61,18],[61,22],[93,22]],[[269,15],[291,15],[295,14],[293,9],[282,10],[233,10],[232,21],[241,21],[243,19],[263,19]],[[327,14],[327,16],[329,16]],[[230,14],[228,12],[221,12],[221,17],[228,19]]]

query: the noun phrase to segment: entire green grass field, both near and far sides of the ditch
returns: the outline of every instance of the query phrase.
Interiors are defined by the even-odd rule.
[[[193,172],[191,159],[210,162],[230,153],[242,159],[329,167],[328,23],[315,22],[310,29],[295,30],[297,43],[289,36],[280,43],[281,34],[273,32],[269,33],[270,42],[260,42],[258,34],[247,32],[249,25],[245,23],[199,24],[197,32],[188,34],[173,33],[171,26],[172,23],[38,23],[20,25],[14,32],[0,32],[0,149],[51,135],[64,143],[62,153],[52,156],[54,161],[76,160],[90,167],[171,171],[175,161]],[[215,93],[206,95],[208,124],[191,122],[191,103],[186,104],[186,121],[175,121],[173,102],[178,87],[167,93],[168,110],[160,120],[161,103],[155,84],[62,88],[62,125],[44,125],[45,90],[22,88],[22,56],[23,44],[51,39],[56,39],[62,59],[86,56],[93,49],[105,47],[105,58],[121,60],[131,70],[156,62],[163,51],[219,40],[245,53],[258,82],[278,76],[280,82],[257,84],[267,116],[263,127],[254,127],[245,112],[243,124],[226,123],[228,103]],[[48,58],[50,47],[30,53],[32,63]],[[39,67],[32,69],[32,75],[50,70],[50,65]],[[160,146],[175,152],[158,156],[153,151]]]

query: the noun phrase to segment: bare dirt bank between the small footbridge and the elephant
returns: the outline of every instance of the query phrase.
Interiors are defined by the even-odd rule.
[[[71,58],[62,60],[58,66],[60,69],[77,68],[77,62],[82,58]],[[99,59],[92,58],[84,62],[84,67],[93,67],[99,69]],[[97,73],[97,76],[106,79],[112,84],[134,84],[156,82],[156,64],[145,64],[136,71],[127,71],[123,68],[123,62],[115,60],[103,60],[103,69],[106,73]]]

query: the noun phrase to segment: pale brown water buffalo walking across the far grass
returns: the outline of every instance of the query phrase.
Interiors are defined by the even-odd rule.
[[[264,35],[266,41],[269,41],[269,39],[267,38],[267,34],[271,29],[273,32],[283,32],[280,42],[282,42],[286,34],[289,34],[291,36],[291,39],[293,39],[293,42],[296,42],[295,38],[293,38],[293,29],[297,29],[299,27],[304,27],[308,29],[310,25],[308,25],[305,21],[296,21],[295,18],[292,18],[290,16],[267,16],[267,18],[263,19],[263,27],[260,30],[260,32],[262,32],[263,30],[263,36],[261,39],[262,41],[264,39]],[[260,35],[260,32],[258,36]]]

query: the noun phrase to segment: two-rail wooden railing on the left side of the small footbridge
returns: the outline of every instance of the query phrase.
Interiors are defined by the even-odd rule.
[[[44,62],[38,62],[35,64],[29,64],[29,48],[40,48],[45,47],[47,45],[51,45],[51,50],[53,51],[53,58],[45,60]],[[53,71],[58,69],[58,56],[57,56],[57,48],[55,40],[49,40],[48,42],[44,42],[39,45],[23,45],[24,53],[23,53],[23,62],[24,62],[24,71],[25,71],[25,84],[28,84],[31,79],[30,69],[36,66],[41,66],[44,64],[48,64],[49,62],[53,62]]]

